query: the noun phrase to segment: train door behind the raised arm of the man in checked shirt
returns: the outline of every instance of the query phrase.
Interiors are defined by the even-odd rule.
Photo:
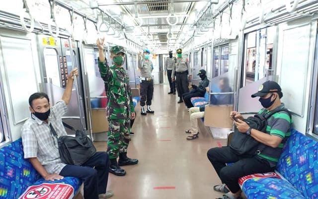
[[[71,54],[68,56],[66,50],[62,49],[60,38],[55,39],[48,35],[38,35],[37,37],[40,63],[42,65],[41,76],[43,77],[40,87],[43,92],[48,94],[50,104],[54,105],[62,99],[68,79],[68,72],[72,70],[69,57]],[[73,89],[72,97],[68,104],[68,112],[63,119],[75,129],[85,128],[82,122],[83,119],[79,117],[79,107],[82,106],[79,105],[77,92]],[[81,114],[83,116],[82,108]],[[74,133],[71,130],[66,130],[69,133]]]

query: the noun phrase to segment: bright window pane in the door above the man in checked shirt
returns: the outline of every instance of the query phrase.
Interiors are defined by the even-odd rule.
[[[58,54],[55,49],[44,49],[44,63],[47,82],[61,87]]]

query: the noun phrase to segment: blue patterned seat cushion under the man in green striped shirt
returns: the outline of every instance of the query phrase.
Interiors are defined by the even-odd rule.
[[[274,172],[245,176],[239,185],[247,199],[306,199]]]

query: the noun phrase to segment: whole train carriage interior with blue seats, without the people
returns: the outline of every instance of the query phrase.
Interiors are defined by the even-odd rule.
[[[44,180],[23,156],[21,128],[32,115],[29,96],[47,93],[50,106],[55,105],[77,67],[79,76],[62,121],[86,132],[97,151],[108,150],[111,84],[101,75],[96,45],[103,38],[107,66],[116,66],[112,47],[124,47],[123,68],[136,113],[127,154],[139,159],[137,165],[123,166],[126,176],[109,174],[107,191],[113,191],[113,199],[227,199],[214,190],[223,182],[207,152],[230,145],[229,135],[239,128],[230,114],[238,112],[246,119],[264,107],[251,95],[267,81],[281,87],[281,102],[291,114],[290,136],[282,137],[272,173],[240,176],[241,197],[318,199],[318,0],[1,2],[0,199],[84,199],[78,179],[64,182],[73,190],[68,198],[67,188],[56,188],[58,196],[49,194],[56,191],[50,187],[42,188],[46,194],[26,191]],[[146,49],[151,77],[140,67]],[[177,49],[182,50],[180,59]],[[166,73],[169,51],[175,59],[173,94]],[[202,117],[194,120],[194,140],[185,133],[192,129],[191,108],[178,101],[178,75],[183,71],[177,68],[183,60],[189,92],[199,86],[202,69],[209,80],[205,94],[191,98],[192,107],[205,105]],[[143,115],[147,78],[153,82],[155,113]],[[75,136],[70,129],[66,132]]]

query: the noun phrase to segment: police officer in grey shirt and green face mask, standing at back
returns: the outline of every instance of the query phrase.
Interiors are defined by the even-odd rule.
[[[171,79],[172,81],[176,82],[176,87],[178,91],[178,97],[180,98],[178,103],[182,103],[182,95],[183,93],[189,92],[189,81],[188,81],[188,74],[189,74],[189,62],[186,58],[182,57],[182,49],[177,50],[176,63],[172,68]],[[174,75],[176,79],[174,80]]]

